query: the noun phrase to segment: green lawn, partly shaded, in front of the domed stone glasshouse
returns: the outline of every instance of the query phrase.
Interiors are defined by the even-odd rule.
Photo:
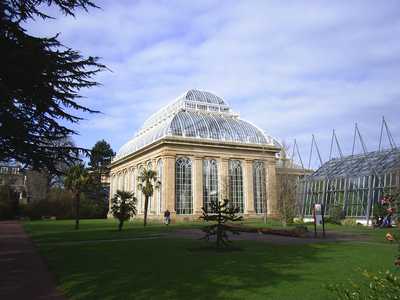
[[[83,220],[79,231],[73,221],[24,223],[71,299],[334,299],[324,284],[358,280],[359,268],[392,268],[396,253],[385,231],[358,227],[353,230],[370,235],[370,243],[235,241],[243,251],[214,253],[192,250],[204,241],[157,237],[199,223],[126,225],[117,232],[109,220]],[[97,242],[74,242],[88,240]]]

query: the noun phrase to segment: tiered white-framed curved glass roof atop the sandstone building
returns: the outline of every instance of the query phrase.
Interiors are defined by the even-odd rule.
[[[274,139],[239,118],[226,102],[206,91],[189,90],[147,119],[136,136],[123,145],[114,160],[165,137],[274,146]]]

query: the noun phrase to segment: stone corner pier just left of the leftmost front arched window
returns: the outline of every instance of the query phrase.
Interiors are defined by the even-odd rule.
[[[175,156],[166,155],[163,172],[163,201],[165,209],[168,209],[172,216],[175,215]]]

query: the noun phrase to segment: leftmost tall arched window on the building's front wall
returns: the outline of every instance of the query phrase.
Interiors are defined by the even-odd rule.
[[[175,199],[177,214],[193,213],[192,161],[186,157],[176,160]]]

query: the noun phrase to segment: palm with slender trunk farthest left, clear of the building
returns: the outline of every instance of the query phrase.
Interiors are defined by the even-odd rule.
[[[89,173],[83,164],[70,167],[65,174],[64,185],[73,193],[75,199],[75,229],[79,229],[81,192],[88,182]]]

